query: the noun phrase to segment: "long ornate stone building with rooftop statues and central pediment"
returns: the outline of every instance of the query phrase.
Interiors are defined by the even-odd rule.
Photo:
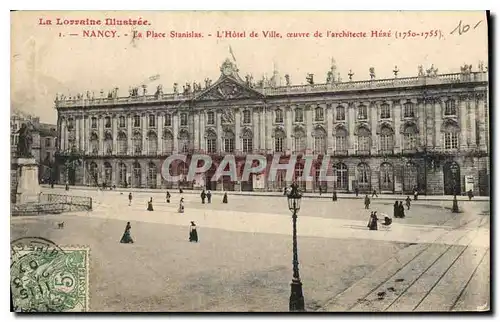
[[[433,66],[418,69],[415,77],[342,82],[335,66],[327,82],[278,86],[277,74],[254,83],[243,80],[235,63],[226,60],[221,76],[205,86],[186,84],[173,93],[158,86],[153,95],[146,86],[128,97],[118,89],[100,98],[58,97],[59,157],[82,156],[82,167],[63,170],[70,184],[106,183],[147,188],[208,187],[218,190],[278,190],[286,184],[284,172],[268,182],[255,175],[249,182],[223,177],[210,183],[217,163],[234,154],[243,168],[246,154],[263,154],[271,163],[282,153],[286,161],[298,154],[295,175],[302,175],[304,159],[313,154],[311,176],[319,177],[329,161],[334,182],[301,182],[307,191],[320,185],[332,191],[387,193],[489,194],[488,72],[438,74]],[[215,165],[195,182],[172,184],[161,176],[161,165],[173,153],[212,155]],[[187,174],[187,166],[173,165],[173,174]]]

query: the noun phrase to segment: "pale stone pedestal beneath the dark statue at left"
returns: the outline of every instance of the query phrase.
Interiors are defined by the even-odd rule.
[[[16,204],[39,202],[38,164],[34,158],[17,159]]]

